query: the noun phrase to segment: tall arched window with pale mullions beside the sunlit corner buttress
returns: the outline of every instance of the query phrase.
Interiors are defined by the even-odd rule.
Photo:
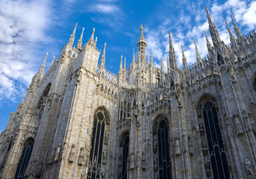
[[[100,178],[105,121],[106,119],[102,112],[98,112],[94,116],[93,138],[91,142],[92,148],[90,151],[90,163],[91,163],[90,167],[91,168],[87,174],[87,178],[90,178],[90,179]],[[107,131],[107,136],[105,135],[105,140],[107,140],[106,138],[108,138],[108,131]]]

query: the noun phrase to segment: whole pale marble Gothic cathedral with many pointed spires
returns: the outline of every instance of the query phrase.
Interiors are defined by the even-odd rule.
[[[146,57],[142,26],[117,75],[106,44],[98,65],[94,29],[74,46],[75,26],[0,134],[0,178],[256,178],[256,31],[244,37],[231,16],[227,45],[206,12],[207,57],[196,46],[188,68],[182,49],[178,68],[169,34],[167,72]]]

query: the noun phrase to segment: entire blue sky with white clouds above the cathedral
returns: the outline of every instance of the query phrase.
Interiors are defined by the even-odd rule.
[[[83,27],[83,44],[93,28],[98,37],[97,47],[103,50],[107,43],[106,67],[110,72],[118,72],[121,55],[127,59],[126,66],[131,63],[133,48],[137,53],[141,23],[146,53],[152,48],[156,66],[161,57],[166,64],[170,31],[178,65],[182,68],[181,45],[189,66],[196,62],[193,40],[197,41],[201,56],[207,55],[204,31],[209,37],[210,33],[205,6],[225,43],[230,43],[225,20],[234,33],[230,13],[244,35],[255,30],[256,1],[1,0],[0,131],[4,131],[9,113],[22,101],[25,87],[39,70],[46,52],[49,51],[47,69],[52,58],[60,55],[76,22],[75,45]]]

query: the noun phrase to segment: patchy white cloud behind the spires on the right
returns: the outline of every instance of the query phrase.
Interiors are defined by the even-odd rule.
[[[231,22],[230,13],[234,15],[239,25],[243,25],[244,28],[246,27],[247,32],[255,28],[256,1],[246,3],[246,1],[241,0],[228,0],[224,4],[213,3],[208,9],[219,31],[219,36],[226,44],[230,43],[230,40],[225,20]],[[160,58],[163,57],[163,59],[166,59],[168,55],[168,31],[171,31],[172,34],[172,43],[175,48],[176,57],[178,58],[178,66],[182,67],[181,44],[184,45],[184,51],[189,65],[196,63],[196,50],[193,40],[196,40],[201,56],[207,56],[204,31],[207,31],[209,40],[211,38],[205,9],[202,8],[202,4],[199,1],[187,6],[187,11],[190,14],[184,13],[184,10],[181,10],[177,20],[173,20],[172,17],[166,17],[160,25],[149,30],[145,35],[148,43],[147,46],[152,48],[153,57],[156,58],[154,62],[157,63],[157,66],[160,66]],[[230,26],[232,27],[232,25]]]

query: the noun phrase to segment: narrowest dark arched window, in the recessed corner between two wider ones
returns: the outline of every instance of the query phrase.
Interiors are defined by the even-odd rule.
[[[127,178],[127,159],[129,152],[129,136],[125,136],[124,142],[122,143],[122,179]]]

